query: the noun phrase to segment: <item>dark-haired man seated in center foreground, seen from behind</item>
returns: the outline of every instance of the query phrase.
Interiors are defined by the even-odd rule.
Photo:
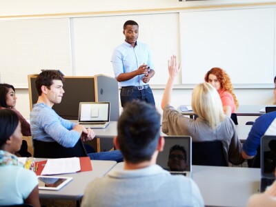
[[[164,148],[160,115],[142,101],[126,104],[118,121],[116,148],[124,156],[124,170],[114,170],[86,187],[86,206],[204,206],[199,188],[183,175],[170,175],[156,164]]]

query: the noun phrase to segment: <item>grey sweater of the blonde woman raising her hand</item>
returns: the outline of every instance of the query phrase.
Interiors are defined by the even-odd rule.
[[[235,124],[229,117],[212,129],[207,121],[184,117],[172,106],[163,112],[162,131],[166,135],[188,135],[193,141],[220,140],[224,146],[224,156],[231,164],[242,164],[242,144],[237,137]]]

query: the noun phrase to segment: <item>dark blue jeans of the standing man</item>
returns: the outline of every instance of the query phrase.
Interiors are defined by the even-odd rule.
[[[146,85],[142,90],[139,90],[137,86],[121,87],[120,97],[122,107],[134,99],[146,101],[146,103],[150,103],[155,106],[155,98],[153,97],[152,90],[148,85]]]

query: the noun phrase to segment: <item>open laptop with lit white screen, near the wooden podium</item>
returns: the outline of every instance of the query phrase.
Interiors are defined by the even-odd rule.
[[[86,128],[106,128],[110,122],[110,102],[80,102],[79,124]]]

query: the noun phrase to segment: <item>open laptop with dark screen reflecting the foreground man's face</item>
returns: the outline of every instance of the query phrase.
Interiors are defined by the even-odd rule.
[[[190,177],[192,172],[192,137],[168,136],[164,138],[164,150],[159,152],[157,164],[172,175]],[[183,150],[186,151],[186,157]]]

